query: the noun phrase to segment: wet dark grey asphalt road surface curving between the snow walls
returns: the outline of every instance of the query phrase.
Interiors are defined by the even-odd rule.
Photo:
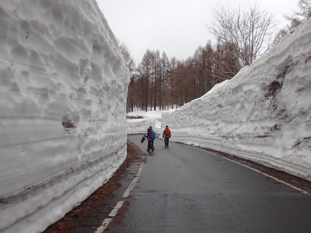
[[[129,136],[144,151],[141,135]],[[155,140],[114,233],[310,233],[311,198],[232,161]]]

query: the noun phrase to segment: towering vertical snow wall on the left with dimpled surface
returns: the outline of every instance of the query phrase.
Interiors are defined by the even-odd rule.
[[[95,0],[1,0],[0,22],[0,232],[38,233],[123,163],[129,72]]]

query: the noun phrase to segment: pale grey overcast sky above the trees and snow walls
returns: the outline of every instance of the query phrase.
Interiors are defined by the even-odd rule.
[[[206,25],[218,6],[247,8],[257,2],[275,15],[279,28],[283,14],[296,10],[298,0],[97,0],[115,36],[124,42],[136,63],[149,48],[165,51],[169,58],[186,59],[213,36]]]

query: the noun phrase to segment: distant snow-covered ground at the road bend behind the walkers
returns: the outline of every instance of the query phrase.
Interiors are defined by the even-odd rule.
[[[152,111],[133,111],[128,116],[142,116],[142,119],[126,119],[127,134],[146,133],[150,125],[156,133],[160,133],[161,129],[161,113],[164,110]]]

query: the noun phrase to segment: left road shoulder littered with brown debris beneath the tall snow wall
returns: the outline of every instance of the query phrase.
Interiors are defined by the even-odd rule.
[[[106,184],[61,220],[49,226],[44,233],[95,232],[102,225],[103,220],[109,217],[118,200],[123,199],[124,190],[131,184],[140,165],[145,161],[146,156],[140,148],[127,141],[127,156],[119,170]],[[127,205],[128,203],[124,206]]]

